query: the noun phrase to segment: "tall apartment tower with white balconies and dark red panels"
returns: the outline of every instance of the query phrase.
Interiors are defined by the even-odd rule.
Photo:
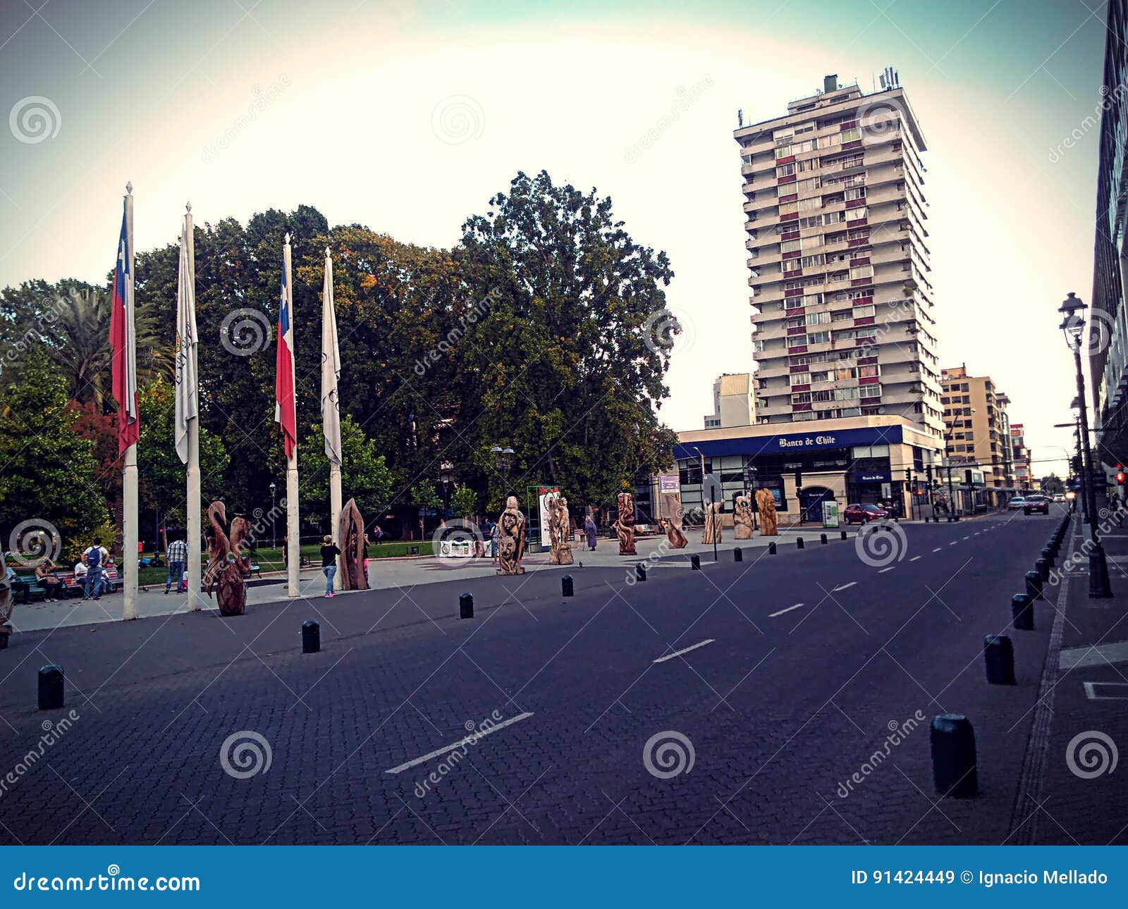
[[[943,439],[925,140],[892,70],[741,125],[759,423],[901,416]],[[813,427],[812,427],[813,429]]]

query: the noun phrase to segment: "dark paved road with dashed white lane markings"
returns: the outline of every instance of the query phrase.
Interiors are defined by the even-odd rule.
[[[1058,517],[898,528],[872,565],[814,531],[644,583],[573,566],[570,599],[541,571],[18,635],[0,842],[1001,842],[1050,627],[1007,632],[1010,598]],[[993,633],[1013,688],[985,682]],[[49,662],[68,705],[42,713]],[[977,798],[933,791],[945,712]]]

